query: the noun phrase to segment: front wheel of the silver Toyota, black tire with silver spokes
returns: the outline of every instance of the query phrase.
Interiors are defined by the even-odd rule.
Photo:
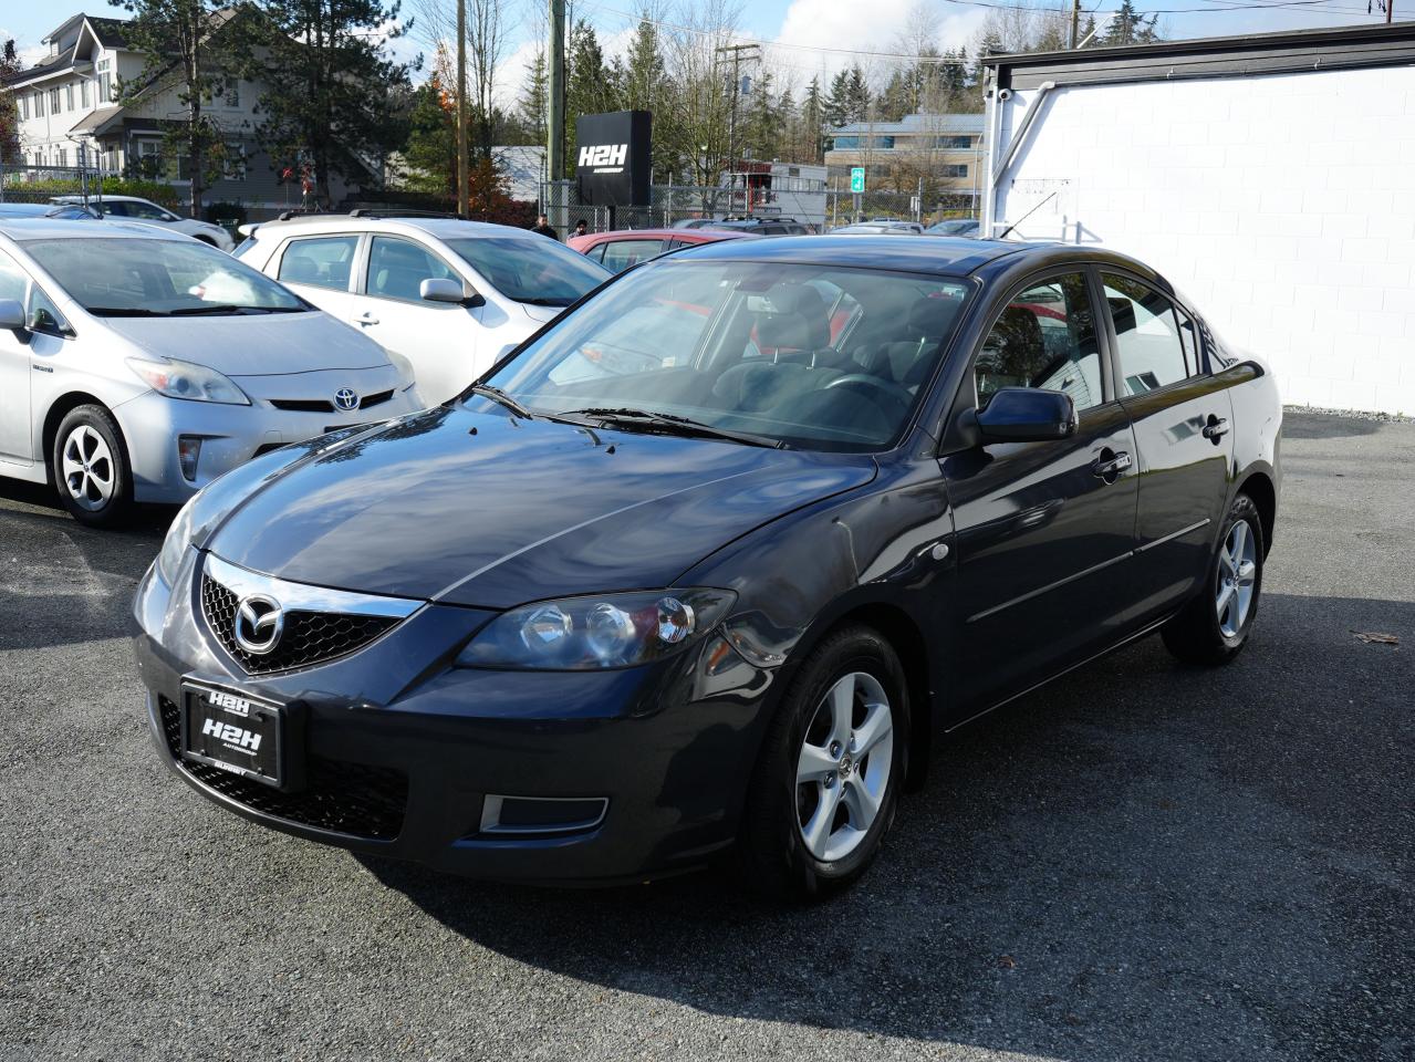
[[[59,423],[50,460],[59,502],[79,523],[113,527],[127,516],[133,478],[112,414],[76,406]]]

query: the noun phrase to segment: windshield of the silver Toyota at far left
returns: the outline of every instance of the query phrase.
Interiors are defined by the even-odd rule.
[[[197,240],[35,239],[24,249],[98,317],[293,313],[308,305]]]

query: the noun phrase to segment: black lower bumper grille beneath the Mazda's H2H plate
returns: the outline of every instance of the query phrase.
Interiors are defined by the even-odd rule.
[[[297,793],[282,793],[221,768],[183,759],[177,706],[158,697],[158,707],[167,751],[177,765],[202,785],[253,812],[369,840],[392,840],[403,829],[408,775],[402,771],[310,757],[306,788]]]

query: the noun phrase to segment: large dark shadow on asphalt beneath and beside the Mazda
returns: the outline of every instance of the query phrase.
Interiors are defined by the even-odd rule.
[[[713,1014],[1067,1059],[1382,1056],[1357,986],[1390,930],[1363,912],[1409,837],[1351,823],[1408,806],[1415,605],[1262,608],[1228,667],[1150,638],[949,735],[867,877],[814,906],[723,871],[550,891],[364,863],[488,949]]]

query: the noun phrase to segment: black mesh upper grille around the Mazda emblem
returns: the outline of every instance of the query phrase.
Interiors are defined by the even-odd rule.
[[[236,643],[236,604],[235,594],[211,576],[202,574],[201,612],[207,625],[221,646],[250,675],[313,667],[348,656],[398,624],[398,619],[381,615],[290,609],[284,614],[280,642],[269,653],[256,656]]]

